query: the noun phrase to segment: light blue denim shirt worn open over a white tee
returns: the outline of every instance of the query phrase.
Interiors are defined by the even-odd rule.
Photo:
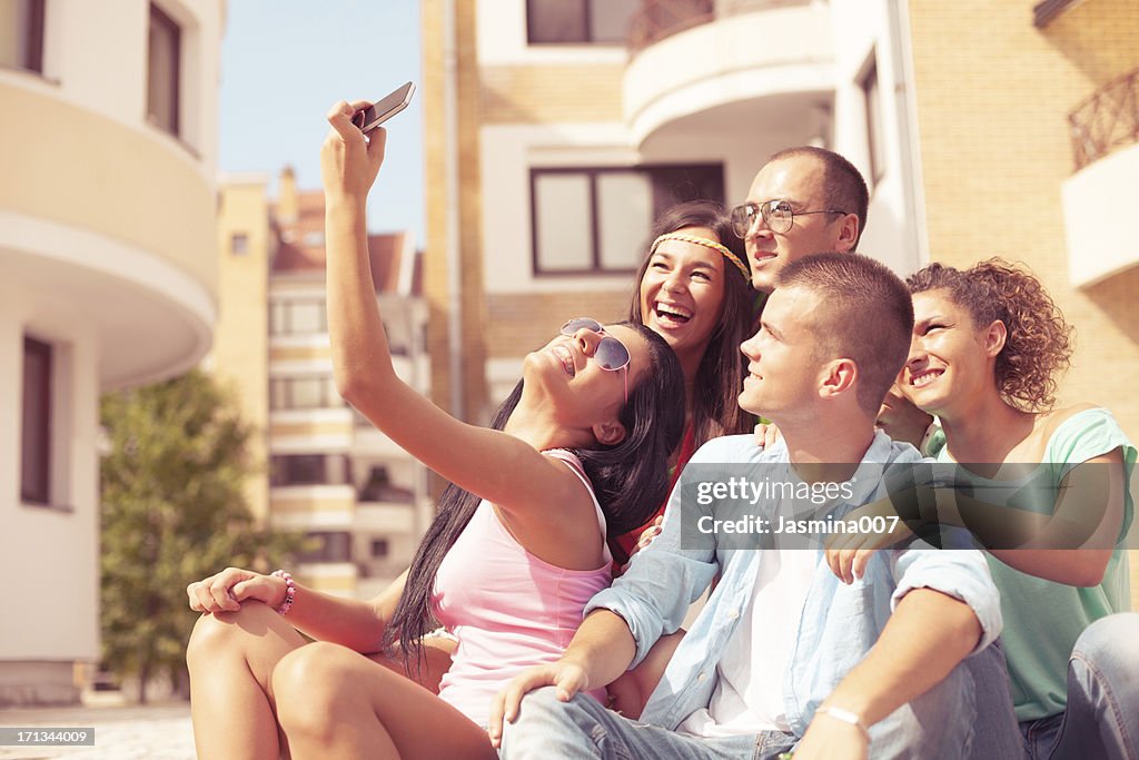
[[[700,447],[688,467],[788,461],[782,441],[762,450],[752,435],[734,435]],[[829,512],[842,515],[885,497],[884,465],[920,461],[913,447],[895,443],[878,432],[849,481],[853,498]],[[588,614],[599,607],[608,608],[625,620],[637,641],[636,665],[662,635],[680,628],[689,605],[718,572],[721,574],[715,591],[673,654],[641,716],[642,721],[669,729],[674,729],[695,710],[708,706],[716,686],[716,663],[747,613],[761,564],[771,554],[763,549],[694,549],[690,541],[682,548],[680,492],[678,485],[670,497],[661,536],[638,553],[625,574],[595,596],[585,610]],[[714,516],[715,505],[707,508]],[[874,646],[894,605],[909,590],[931,588],[968,604],[984,631],[974,653],[1000,634],[1000,602],[980,551],[940,550],[915,542],[904,549],[877,553],[863,577],[846,586],[822,562],[822,550],[814,550],[819,565],[784,678],[784,706],[792,732],[798,736],[806,730],[816,708]],[[772,610],[770,614],[778,615],[780,611]]]

